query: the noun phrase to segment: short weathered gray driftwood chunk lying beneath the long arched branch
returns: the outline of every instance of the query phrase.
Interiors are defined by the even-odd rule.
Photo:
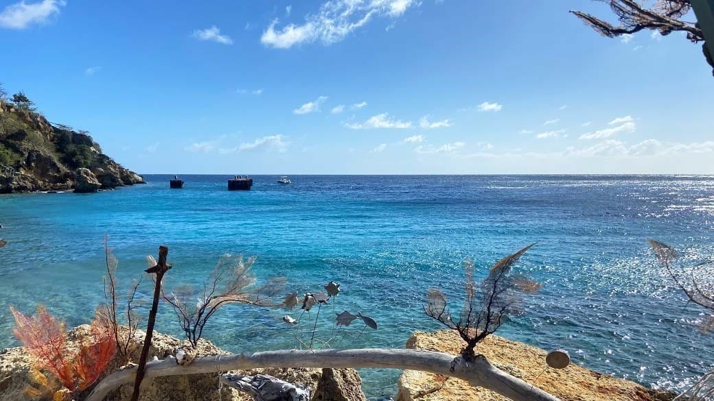
[[[243,376],[232,373],[221,375],[221,382],[248,395],[256,401],[310,401],[310,390],[292,385],[269,375]]]

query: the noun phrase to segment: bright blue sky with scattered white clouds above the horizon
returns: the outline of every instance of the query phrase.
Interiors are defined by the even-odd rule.
[[[0,82],[140,173],[714,173],[714,78],[590,1],[0,0]]]

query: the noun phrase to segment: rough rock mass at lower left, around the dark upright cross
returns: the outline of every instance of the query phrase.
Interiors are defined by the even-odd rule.
[[[77,339],[88,334],[88,328],[89,326],[84,325],[72,330],[70,341],[76,343]],[[144,333],[138,333],[137,337],[143,340]],[[132,360],[139,360],[141,342],[141,340],[136,342]],[[154,333],[149,356],[165,359],[174,355],[176,348],[183,346],[186,346],[186,344],[178,340],[178,338]],[[228,352],[221,350],[209,341],[200,340],[198,342],[196,356],[227,354]],[[117,365],[115,363],[113,367],[110,367],[110,370],[119,369]],[[29,355],[21,347],[9,348],[0,353],[0,401],[29,400],[26,395],[26,389],[31,384],[31,366],[32,362]],[[323,372],[322,369],[316,368],[266,368],[236,371],[236,373],[241,375],[263,373],[296,385],[304,385],[312,390],[313,400],[366,401],[366,397],[360,387],[361,379],[354,369],[325,369],[325,372]],[[252,397],[225,386],[221,387],[219,393],[218,373],[146,379],[141,387],[141,397],[139,398],[141,401],[253,400]],[[119,387],[119,390],[112,392],[106,400],[129,401],[132,390],[132,385],[124,385]]]

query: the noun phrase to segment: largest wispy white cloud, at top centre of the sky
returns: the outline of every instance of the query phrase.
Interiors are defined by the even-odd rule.
[[[263,31],[261,43],[277,49],[316,41],[333,44],[375,17],[397,19],[418,4],[416,0],[328,0],[316,14],[308,14],[303,24],[289,24],[281,29],[277,27],[278,19],[274,19]]]

